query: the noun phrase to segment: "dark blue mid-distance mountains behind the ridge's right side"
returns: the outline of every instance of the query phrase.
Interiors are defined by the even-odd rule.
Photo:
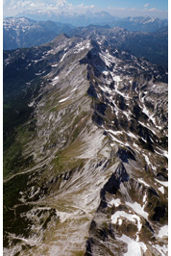
[[[144,57],[150,62],[168,66],[168,28],[157,32],[134,32],[123,28],[89,25],[75,28],[67,33],[70,37],[77,35],[83,38],[102,38],[103,43],[129,51],[137,58]]]

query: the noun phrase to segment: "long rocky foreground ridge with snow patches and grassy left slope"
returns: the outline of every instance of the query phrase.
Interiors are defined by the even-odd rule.
[[[167,112],[108,38],[4,51],[4,255],[168,255]]]

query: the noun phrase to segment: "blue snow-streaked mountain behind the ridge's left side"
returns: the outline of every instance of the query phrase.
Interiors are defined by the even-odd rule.
[[[3,48],[11,50],[20,47],[40,45],[61,33],[68,33],[74,27],[53,21],[36,21],[26,17],[9,17],[3,20]]]

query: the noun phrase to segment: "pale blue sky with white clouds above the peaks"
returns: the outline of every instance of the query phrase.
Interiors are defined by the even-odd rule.
[[[4,16],[28,10],[92,13],[106,11],[115,16],[149,15],[167,18],[168,0],[4,0]]]

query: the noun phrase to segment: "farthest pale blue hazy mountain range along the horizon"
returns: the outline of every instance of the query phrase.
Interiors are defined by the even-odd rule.
[[[111,27],[122,27],[131,31],[154,32],[159,28],[168,25],[166,19],[160,20],[158,17],[126,17],[118,18],[107,12],[91,13],[87,11],[85,14],[80,13],[53,13],[51,11],[27,11],[19,13],[17,17],[25,16],[35,20],[52,20],[62,23],[70,23],[74,26],[87,26],[89,24],[110,25]]]

